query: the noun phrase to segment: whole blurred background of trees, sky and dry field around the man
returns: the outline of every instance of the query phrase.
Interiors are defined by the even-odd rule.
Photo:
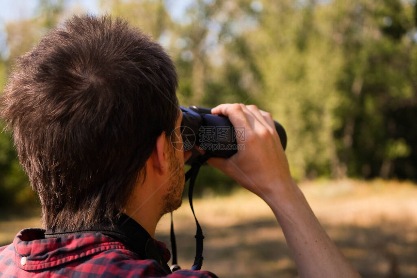
[[[363,277],[417,276],[415,0],[0,0],[0,90],[17,56],[68,16],[127,18],[165,47],[180,104],[255,104],[288,133],[287,156],[319,220]],[[0,128],[4,125],[1,123]],[[297,277],[269,208],[203,167],[195,208],[203,268]],[[0,245],[40,226],[10,133],[0,134]],[[179,263],[194,223],[175,214]],[[157,238],[169,242],[169,219]]]

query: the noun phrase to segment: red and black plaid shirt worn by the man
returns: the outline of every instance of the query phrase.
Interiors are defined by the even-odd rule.
[[[171,255],[155,240],[165,262]],[[178,270],[168,274],[154,260],[141,260],[124,244],[102,233],[78,233],[45,238],[43,229],[20,231],[0,247],[0,277],[170,277],[210,278],[207,271]]]

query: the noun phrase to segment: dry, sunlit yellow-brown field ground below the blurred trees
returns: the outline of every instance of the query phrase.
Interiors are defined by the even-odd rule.
[[[417,277],[417,186],[395,181],[315,181],[300,185],[329,236],[364,278]],[[203,269],[219,277],[298,277],[270,208],[237,190],[194,201],[205,235]],[[192,265],[195,222],[188,201],[174,213],[178,263]],[[38,218],[0,222],[0,244]],[[169,244],[170,217],[156,238]]]

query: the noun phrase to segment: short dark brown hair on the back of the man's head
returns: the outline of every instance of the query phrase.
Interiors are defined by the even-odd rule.
[[[178,117],[163,48],[120,18],[74,16],[19,57],[0,99],[44,227],[114,224]]]

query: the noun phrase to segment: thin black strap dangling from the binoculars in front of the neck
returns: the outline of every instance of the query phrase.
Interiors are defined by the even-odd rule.
[[[192,270],[200,270],[201,266],[203,265],[203,230],[201,229],[200,223],[198,223],[197,217],[194,213],[194,207],[192,206],[192,193],[194,190],[194,184],[195,179],[197,178],[198,171],[200,170],[201,165],[205,163],[211,155],[209,153],[205,153],[201,156],[198,156],[195,161],[191,165],[191,169],[187,171],[185,174],[185,182],[190,180],[189,188],[188,188],[188,201],[190,201],[190,207],[192,210],[192,215],[195,219],[195,224],[197,226],[197,230],[195,233],[195,242],[196,242],[196,250],[195,250],[195,258],[194,263],[191,267]],[[174,233],[174,224],[173,224],[173,218],[171,214],[171,247],[172,247],[172,270],[175,271],[179,269],[179,266],[177,265],[177,257],[176,257],[176,240],[175,240],[175,233]]]

